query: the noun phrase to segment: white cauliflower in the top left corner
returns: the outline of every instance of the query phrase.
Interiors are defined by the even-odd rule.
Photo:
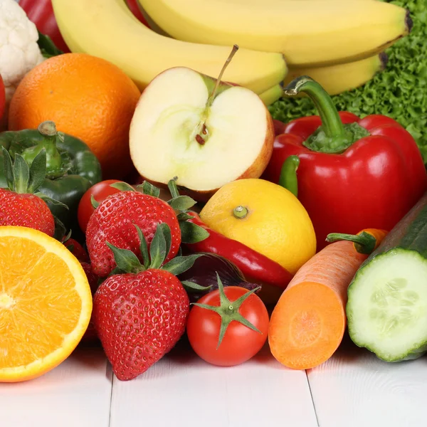
[[[6,88],[6,112],[23,76],[45,59],[37,41],[36,25],[21,6],[15,0],[0,0],[0,75]]]

